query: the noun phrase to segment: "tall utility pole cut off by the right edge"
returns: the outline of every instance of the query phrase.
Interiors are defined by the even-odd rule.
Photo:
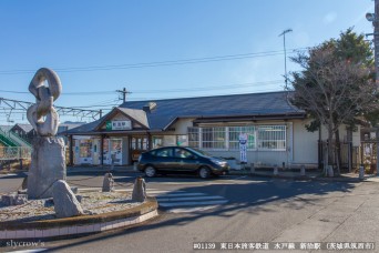
[[[366,19],[373,26],[375,73],[377,89],[379,89],[379,0],[375,0],[375,12],[366,13]],[[370,34],[367,34],[370,36]],[[377,140],[377,175],[379,175],[379,128],[376,130]]]

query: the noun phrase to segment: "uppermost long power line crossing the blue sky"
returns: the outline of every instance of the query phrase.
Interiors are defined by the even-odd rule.
[[[297,51],[304,51],[304,50],[307,50],[307,48],[291,49],[290,53],[294,53]],[[141,63],[130,63],[130,64],[54,68],[54,70],[59,72],[81,72],[81,71],[105,71],[105,70],[121,70],[121,69],[134,69],[134,68],[154,68],[154,67],[167,67],[167,65],[240,60],[240,59],[260,58],[260,57],[273,57],[273,55],[279,55],[283,53],[284,51],[279,50],[279,51],[265,51],[265,52],[255,52],[255,53],[240,53],[240,54],[192,58],[192,59],[170,60],[170,61],[141,62]],[[23,73],[34,73],[34,72],[35,72],[34,70],[3,70],[3,71],[0,71],[0,74],[23,74]]]

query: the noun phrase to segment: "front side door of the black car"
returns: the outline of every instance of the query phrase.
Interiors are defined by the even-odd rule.
[[[178,172],[196,171],[198,161],[196,155],[183,148],[174,148],[175,168]]]

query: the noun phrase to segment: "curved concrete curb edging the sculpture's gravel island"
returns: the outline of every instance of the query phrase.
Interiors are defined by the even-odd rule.
[[[157,216],[157,206],[155,198],[147,198],[147,201],[139,206],[112,213],[23,223],[0,222],[0,240],[59,239],[127,227]]]

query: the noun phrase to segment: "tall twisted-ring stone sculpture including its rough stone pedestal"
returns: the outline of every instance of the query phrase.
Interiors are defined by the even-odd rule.
[[[28,109],[27,117],[38,136],[28,174],[28,198],[51,198],[52,184],[57,180],[65,180],[65,148],[63,139],[55,136],[59,117],[53,107],[62,85],[54,71],[42,68],[34,74],[29,91],[37,101]]]

